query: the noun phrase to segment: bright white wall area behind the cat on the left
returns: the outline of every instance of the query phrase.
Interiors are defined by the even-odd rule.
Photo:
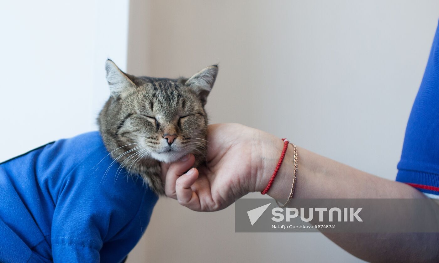
[[[126,68],[128,0],[1,1],[0,161],[96,130],[104,64]]]

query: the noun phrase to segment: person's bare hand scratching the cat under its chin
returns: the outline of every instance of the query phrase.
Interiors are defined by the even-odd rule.
[[[241,124],[209,125],[207,140],[207,162],[198,169],[191,168],[193,155],[162,164],[166,195],[195,211],[221,210],[262,191],[283,147],[276,136]]]

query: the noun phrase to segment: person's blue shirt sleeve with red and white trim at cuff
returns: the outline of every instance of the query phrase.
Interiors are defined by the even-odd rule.
[[[439,197],[439,26],[407,124],[397,181]]]

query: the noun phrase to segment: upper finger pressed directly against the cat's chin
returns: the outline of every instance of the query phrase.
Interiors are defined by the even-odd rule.
[[[169,165],[166,171],[165,178],[165,193],[167,196],[177,199],[175,194],[175,184],[177,178],[189,170],[195,163],[195,156],[193,154],[188,154],[183,156],[180,160]]]

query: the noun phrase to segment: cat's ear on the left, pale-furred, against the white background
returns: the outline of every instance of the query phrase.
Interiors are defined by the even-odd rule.
[[[105,70],[107,71],[107,82],[110,87],[111,96],[115,98],[118,96],[123,97],[130,91],[135,90],[136,85],[112,60],[108,59],[105,62]]]

